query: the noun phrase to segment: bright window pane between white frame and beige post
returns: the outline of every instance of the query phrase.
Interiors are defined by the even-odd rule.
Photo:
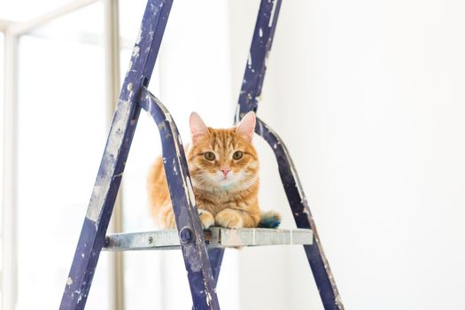
[[[19,40],[18,309],[57,307],[74,257],[107,130],[102,14],[93,4]],[[108,307],[106,259],[89,309]]]

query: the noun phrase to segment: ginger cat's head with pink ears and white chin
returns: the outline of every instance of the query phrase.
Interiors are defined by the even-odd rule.
[[[188,160],[194,186],[204,190],[244,190],[258,179],[259,160],[252,145],[255,114],[236,128],[207,128],[197,113],[190,115]]]

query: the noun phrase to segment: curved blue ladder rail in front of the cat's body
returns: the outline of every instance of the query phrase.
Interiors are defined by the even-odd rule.
[[[141,107],[159,128],[165,174],[194,308],[220,309],[181,136],[167,108],[146,89],[141,95]]]

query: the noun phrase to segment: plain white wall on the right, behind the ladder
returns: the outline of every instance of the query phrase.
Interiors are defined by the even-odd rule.
[[[239,89],[258,1],[230,6]],[[291,151],[347,309],[462,306],[463,12],[461,1],[283,1],[259,115]],[[262,153],[262,169],[275,167]],[[263,205],[292,227],[277,172],[263,174]],[[241,260],[242,308],[322,308],[302,250]]]

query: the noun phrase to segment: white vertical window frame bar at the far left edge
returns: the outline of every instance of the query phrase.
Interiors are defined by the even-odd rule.
[[[18,37],[4,36],[4,174],[2,309],[16,308],[18,298]]]

